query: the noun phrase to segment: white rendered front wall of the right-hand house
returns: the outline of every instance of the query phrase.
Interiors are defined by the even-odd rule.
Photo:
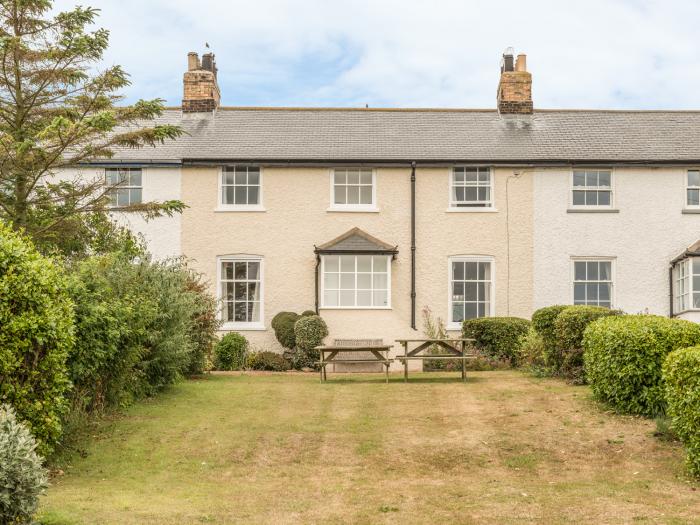
[[[534,183],[534,308],[573,301],[571,257],[614,257],[614,306],[669,313],[669,262],[700,237],[683,214],[685,169],[613,171],[619,213],[567,213],[571,170],[542,169]]]

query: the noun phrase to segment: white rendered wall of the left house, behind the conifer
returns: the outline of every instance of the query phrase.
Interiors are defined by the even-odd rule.
[[[62,169],[55,174],[63,180],[104,181],[104,168],[76,167]],[[142,168],[143,184],[142,198],[144,202],[179,200],[180,168],[153,167]],[[172,217],[159,217],[146,221],[136,214],[115,213],[114,218],[120,224],[127,226],[135,234],[143,236],[149,252],[156,259],[177,257],[182,255],[180,237],[182,217],[175,214]]]

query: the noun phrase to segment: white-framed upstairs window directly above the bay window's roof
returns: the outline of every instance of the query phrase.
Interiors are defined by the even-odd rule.
[[[337,168],[331,174],[331,209],[371,211],[376,208],[374,171],[368,168]]]

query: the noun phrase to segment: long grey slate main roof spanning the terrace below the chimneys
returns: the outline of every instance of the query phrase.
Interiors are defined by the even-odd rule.
[[[700,163],[700,111],[220,108],[119,161]]]

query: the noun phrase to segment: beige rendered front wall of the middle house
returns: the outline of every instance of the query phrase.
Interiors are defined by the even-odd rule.
[[[190,207],[182,222],[183,252],[210,279],[215,292],[217,256],[264,257],[263,331],[245,331],[258,348],[280,350],[272,317],[282,310],[314,307],[314,245],[359,227],[398,245],[392,263],[391,310],[332,310],[321,315],[330,338],[422,337],[421,308],[447,318],[448,256],[492,255],[496,265],[497,315],[528,316],[532,305],[531,178],[495,173],[498,212],[447,212],[449,169],[417,170],[417,325],[410,327],[410,169],[376,170],[379,211],[329,212],[327,168],[262,169],[264,212],[216,212],[219,170],[184,168],[182,199]],[[509,205],[506,205],[506,180]],[[510,214],[510,255],[506,218]],[[507,286],[510,268],[510,287]],[[510,292],[509,292],[510,290]],[[453,333],[452,335],[458,335]],[[398,351],[398,347],[394,349]],[[417,364],[416,366],[419,366]]]

